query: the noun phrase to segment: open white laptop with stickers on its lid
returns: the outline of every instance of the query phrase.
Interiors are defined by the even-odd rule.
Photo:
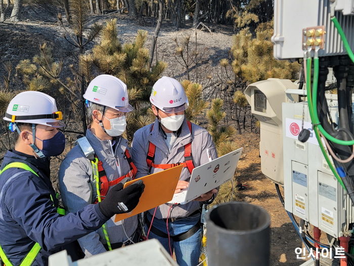
[[[234,177],[243,148],[193,169],[188,188],[173,195],[168,203],[186,204]]]

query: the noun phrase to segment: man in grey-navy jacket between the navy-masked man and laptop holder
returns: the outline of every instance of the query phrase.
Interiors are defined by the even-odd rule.
[[[85,137],[77,140],[62,162],[59,187],[65,208],[70,212],[104,199],[111,187],[135,178],[137,168],[130,158],[128,141],[121,135],[128,103],[126,85],[112,75],[93,79],[83,95],[90,121]],[[114,222],[78,240],[86,257],[138,242],[138,216]]]

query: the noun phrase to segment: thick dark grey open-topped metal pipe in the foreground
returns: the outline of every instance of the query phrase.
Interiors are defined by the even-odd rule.
[[[228,202],[211,208],[206,218],[209,265],[269,265],[271,218],[263,208]]]

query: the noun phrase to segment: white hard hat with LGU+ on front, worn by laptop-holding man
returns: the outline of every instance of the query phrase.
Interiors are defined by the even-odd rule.
[[[184,111],[188,107],[183,86],[177,80],[168,77],[162,77],[154,84],[150,102],[166,113]]]

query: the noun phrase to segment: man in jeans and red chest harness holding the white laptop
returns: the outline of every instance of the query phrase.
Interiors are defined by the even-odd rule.
[[[186,120],[188,99],[175,79],[162,77],[153,86],[150,102],[156,116],[153,124],[139,129],[132,141],[132,159],[137,177],[156,173],[178,164],[185,167],[175,193],[189,185],[193,168],[217,158],[210,134]],[[157,238],[179,265],[197,265],[202,226],[201,206],[210,204],[217,189],[185,205],[163,204],[146,215],[146,233]],[[167,224],[167,225],[166,225]]]

